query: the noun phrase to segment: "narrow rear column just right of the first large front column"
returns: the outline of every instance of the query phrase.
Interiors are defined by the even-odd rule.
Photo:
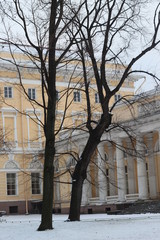
[[[116,195],[116,181],[115,181],[115,162],[113,156],[112,145],[108,146],[108,165],[109,165],[109,190],[110,196]]]

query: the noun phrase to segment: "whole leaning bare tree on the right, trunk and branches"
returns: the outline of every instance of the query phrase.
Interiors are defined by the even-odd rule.
[[[110,131],[112,124],[112,113],[116,103],[110,105],[111,98],[120,90],[125,80],[134,72],[132,67],[146,53],[156,48],[160,43],[158,38],[160,19],[158,4],[154,20],[153,31],[146,37],[146,24],[142,8],[147,1],[86,1],[83,13],[77,15],[74,24],[80,33],[76,38],[77,53],[83,67],[83,78],[85,85],[87,103],[88,140],[84,150],[77,161],[72,175],[72,195],[70,204],[70,221],[80,220],[80,206],[82,197],[82,186],[86,179],[87,167],[95,152],[104,132]],[[82,21],[83,19],[83,21]],[[72,34],[70,32],[70,34]],[[130,55],[134,51],[134,44],[141,38],[141,50]],[[91,79],[87,60],[91,63],[95,84],[100,99],[102,114],[97,122],[93,116],[93,106],[90,96]],[[126,65],[125,62],[128,62]],[[117,76],[117,85],[111,89],[107,77],[107,63],[115,64],[114,74]],[[119,69],[122,65],[123,68]],[[145,72],[145,71],[143,71]],[[146,73],[146,72],[145,72]],[[147,72],[147,74],[152,75]],[[113,76],[111,76],[112,79]],[[122,100],[122,99],[121,99]]]

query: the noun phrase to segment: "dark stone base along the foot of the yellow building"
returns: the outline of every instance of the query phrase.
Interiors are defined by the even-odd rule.
[[[10,201],[0,202],[0,211],[7,215],[12,214],[41,214],[42,201]],[[133,214],[133,213],[160,213],[160,200],[143,200],[132,203],[102,204],[81,206],[81,214]],[[53,208],[54,214],[69,214],[69,207]]]

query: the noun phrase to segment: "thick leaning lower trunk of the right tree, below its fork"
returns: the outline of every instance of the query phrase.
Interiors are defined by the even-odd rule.
[[[106,108],[107,109],[107,108]],[[100,139],[110,124],[112,115],[107,112],[102,115],[100,123],[96,129],[90,132],[88,142],[83,150],[80,160],[77,162],[73,176],[72,176],[72,193],[70,202],[70,212],[68,219],[70,221],[80,221],[80,209],[82,199],[83,182],[87,177],[87,168],[90,163],[91,157],[97,149]]]

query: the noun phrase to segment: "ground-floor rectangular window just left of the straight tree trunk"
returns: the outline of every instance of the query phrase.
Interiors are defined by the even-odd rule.
[[[31,173],[32,194],[41,194],[40,173]]]

